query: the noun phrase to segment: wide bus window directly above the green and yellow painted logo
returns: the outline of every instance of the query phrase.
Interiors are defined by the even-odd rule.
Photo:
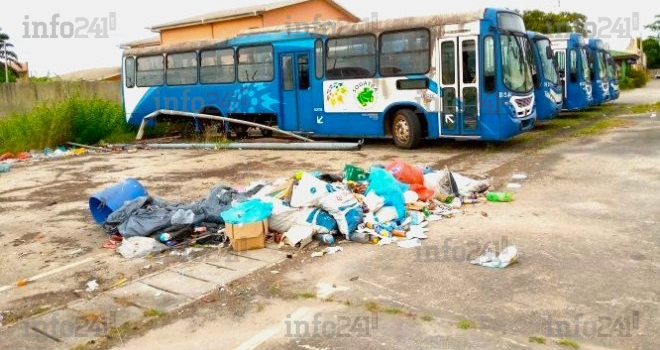
[[[375,36],[329,39],[326,45],[326,78],[371,78],[376,75]]]

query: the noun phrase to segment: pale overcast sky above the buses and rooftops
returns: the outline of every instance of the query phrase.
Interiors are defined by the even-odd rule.
[[[6,2],[6,3],[5,3]],[[146,28],[153,24],[168,22],[188,16],[204,14],[235,7],[249,6],[272,0],[241,0],[240,2],[211,1],[211,0],[185,0],[185,1],[139,1],[139,0],[113,0],[113,1],[52,1],[52,0],[23,0],[3,2],[0,10],[0,28],[9,34],[10,42],[15,46],[14,51],[21,61],[28,61],[33,75],[63,74],[80,69],[119,66],[121,50],[120,43],[142,39],[157,35]],[[657,0],[626,0],[604,1],[584,0],[404,0],[404,1],[348,1],[338,0],[339,4],[360,18],[372,17],[377,12],[378,18],[386,19],[403,16],[427,15],[442,12],[462,12],[483,7],[508,7],[512,9],[543,11],[570,11],[580,12],[588,16],[588,20],[600,25],[602,33],[609,34],[607,39],[612,49],[625,49],[629,38],[616,38],[619,32],[612,32],[606,28],[608,21],[612,24],[617,20],[626,23],[638,12],[639,29],[632,30],[633,36],[648,35],[643,26],[652,21],[654,14],[660,14],[660,2]],[[396,4],[396,5],[394,5]],[[651,5],[655,4],[655,5]],[[24,22],[40,21],[50,23],[54,14],[59,14],[58,22],[75,22],[76,17],[85,17],[90,24],[97,18],[97,29],[102,32],[103,18],[115,13],[116,28],[107,30],[107,38],[95,38],[93,32],[89,38],[25,38]],[[26,20],[26,16],[29,18]],[[79,25],[72,25],[78,28]],[[62,27],[65,31],[69,28]],[[50,24],[48,25],[50,31]],[[30,35],[33,33],[29,26]],[[50,34],[50,32],[49,32]]]

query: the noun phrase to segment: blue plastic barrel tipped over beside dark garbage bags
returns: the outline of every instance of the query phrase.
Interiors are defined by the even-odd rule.
[[[89,211],[99,225],[103,225],[108,216],[121,208],[125,202],[147,196],[147,190],[135,179],[126,179],[89,197]]]

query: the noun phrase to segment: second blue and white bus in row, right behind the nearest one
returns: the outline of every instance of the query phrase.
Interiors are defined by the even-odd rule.
[[[532,44],[536,65],[534,79],[536,117],[538,120],[552,119],[559,114],[564,104],[564,87],[553,61],[550,39],[532,31],[528,31],[527,36]]]

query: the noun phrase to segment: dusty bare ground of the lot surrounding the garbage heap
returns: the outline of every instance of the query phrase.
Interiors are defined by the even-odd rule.
[[[500,188],[511,174],[528,174],[514,203],[467,206],[463,215],[433,224],[425,243],[442,252],[445,240],[451,239],[449,247],[470,252],[473,244],[501,246],[505,240],[518,246],[521,263],[488,270],[468,264],[467,257],[420,261],[415,250],[347,244],[338,256],[314,261],[299,256],[278,274],[266,271],[240,282],[232,286],[241,295],[232,307],[221,306],[227,297],[219,296],[212,307],[173,320],[124,348],[165,348],[162,340],[167,339],[172,349],[216,349],[207,334],[226,340],[223,349],[240,347],[300,308],[326,317],[364,316],[370,313],[363,305],[374,301],[372,309],[391,311],[379,313],[382,328],[376,337],[351,337],[350,342],[321,337],[300,343],[278,333],[260,343],[261,348],[394,344],[402,349],[471,349],[496,344],[515,349],[529,347],[528,336],[543,334],[541,325],[548,315],[572,320],[581,313],[583,320],[598,320],[640,311],[640,328],[633,336],[580,343],[652,349],[660,342],[655,333],[660,311],[655,195],[660,190],[660,158],[653,146],[660,127],[655,119],[632,118],[625,121],[626,128],[572,139],[580,123],[594,122],[589,118],[577,124],[560,119],[500,144],[429,142],[415,151],[385,142],[368,142],[357,152],[140,151],[16,166],[0,181],[0,286],[12,286],[0,292],[0,311],[19,320],[88,297],[84,286],[90,280],[96,279],[103,290],[147,273],[147,262],[124,260],[101,249],[105,235],[88,212],[91,194],[125,178],[140,180],[152,195],[190,201],[218,184],[241,187],[299,170],[340,172],[347,163],[368,167],[401,158],[493,177]],[[572,140],[562,143],[565,139]],[[158,268],[153,265],[148,272]],[[62,272],[15,287],[21,278],[56,269]],[[348,290],[334,303],[297,299],[319,282]],[[457,332],[460,317],[475,322],[477,329]],[[191,324],[200,333],[184,339],[180,334],[188,334]],[[244,331],[213,333],[236,325],[245,326]]]

